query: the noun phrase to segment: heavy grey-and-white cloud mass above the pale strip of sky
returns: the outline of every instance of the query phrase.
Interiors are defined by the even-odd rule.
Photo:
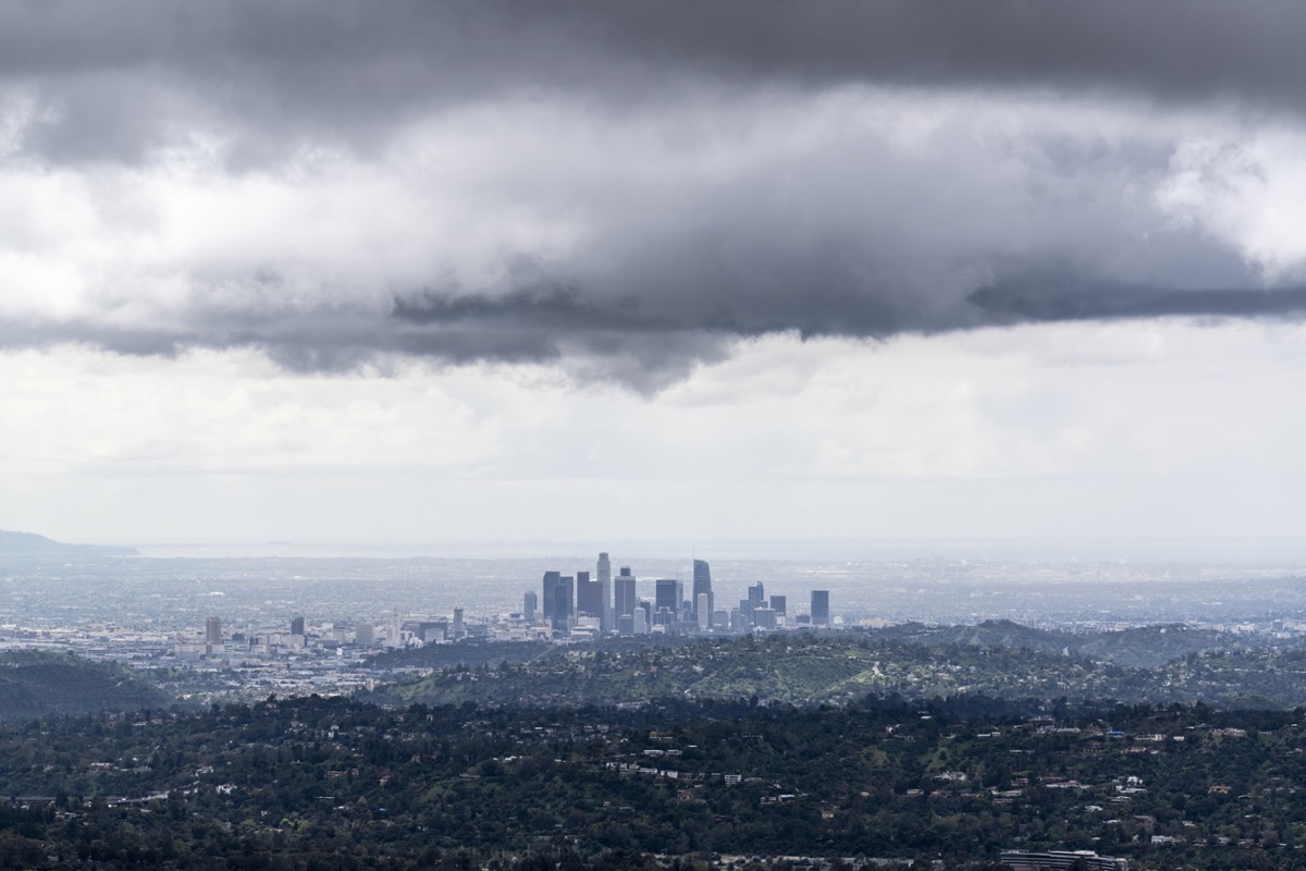
[[[1299,4],[0,3],[0,342],[291,368],[1306,309]]]

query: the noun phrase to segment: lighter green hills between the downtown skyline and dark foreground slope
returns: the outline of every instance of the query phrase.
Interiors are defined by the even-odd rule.
[[[1217,641],[1225,646],[1215,646]],[[1306,704],[1306,650],[1299,648],[1251,648],[1183,627],[1098,633],[1080,637],[1077,646],[1079,653],[1062,633],[1012,623],[785,632],[695,642],[626,640],[551,648],[529,661],[445,665],[385,684],[368,699],[389,705],[584,705],[658,696],[756,696],[846,704],[867,692],[897,692],[1131,704],[1202,700],[1228,708]],[[1138,667],[1111,659],[1162,663]]]

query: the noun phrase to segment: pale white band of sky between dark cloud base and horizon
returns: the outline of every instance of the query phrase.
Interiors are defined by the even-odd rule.
[[[1290,535],[1306,492],[1303,340],[1301,325],[1182,321],[772,337],[652,398],[538,367],[317,376],[235,351],[165,367],[8,353],[0,528],[136,541]]]

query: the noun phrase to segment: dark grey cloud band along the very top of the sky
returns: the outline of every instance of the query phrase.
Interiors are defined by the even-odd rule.
[[[231,157],[366,148],[441,107],[568,93],[610,106],[704,84],[1118,91],[1306,108],[1293,1],[98,0],[0,4],[0,76],[48,110],[51,159],[141,159],[208,124]]]

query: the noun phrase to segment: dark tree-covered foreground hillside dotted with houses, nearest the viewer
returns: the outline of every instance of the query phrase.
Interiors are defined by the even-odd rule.
[[[1302,712],[268,700],[0,727],[17,867],[644,867],[653,854],[1306,866]],[[542,864],[541,864],[542,862]]]

